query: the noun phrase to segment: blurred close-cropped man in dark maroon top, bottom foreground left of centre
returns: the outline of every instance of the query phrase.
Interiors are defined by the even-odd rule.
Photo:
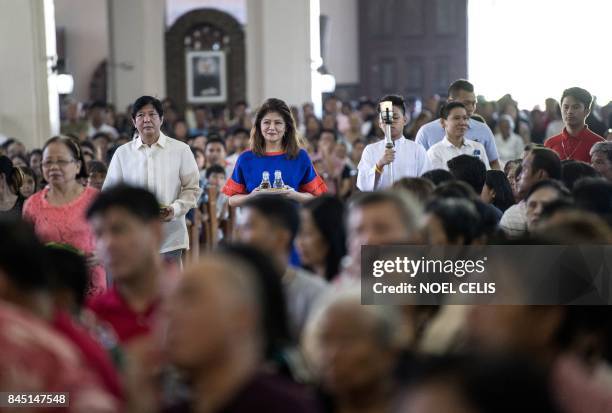
[[[316,411],[304,390],[263,364],[263,305],[253,269],[223,254],[187,270],[170,299],[167,353],[192,400],[173,412]]]

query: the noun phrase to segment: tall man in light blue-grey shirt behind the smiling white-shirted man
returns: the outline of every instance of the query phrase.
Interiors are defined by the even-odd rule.
[[[476,141],[485,147],[487,159],[492,169],[501,169],[499,165],[497,147],[495,146],[495,138],[489,127],[472,119],[472,115],[476,110],[476,94],[474,93],[474,85],[464,79],[454,81],[448,88],[448,102],[461,102],[468,112],[468,129],[465,133],[467,140]],[[444,138],[444,128],[438,119],[432,120],[429,123],[421,126],[417,132],[415,142],[423,145],[425,150],[429,150],[431,146],[440,142]]]

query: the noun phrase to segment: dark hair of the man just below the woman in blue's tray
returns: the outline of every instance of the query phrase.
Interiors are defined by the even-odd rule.
[[[259,195],[247,200],[242,206],[254,209],[273,226],[289,231],[289,249],[300,227],[300,217],[293,202],[277,195]]]

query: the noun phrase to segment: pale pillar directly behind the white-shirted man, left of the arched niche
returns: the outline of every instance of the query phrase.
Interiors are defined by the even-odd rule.
[[[142,95],[166,97],[165,0],[109,0],[110,98],[118,110]]]

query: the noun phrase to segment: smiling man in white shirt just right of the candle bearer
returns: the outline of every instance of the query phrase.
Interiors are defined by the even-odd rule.
[[[471,155],[485,164],[489,169],[489,159],[484,146],[480,143],[465,139],[468,129],[469,116],[466,107],[460,102],[450,102],[440,111],[440,125],[444,129],[444,138],[431,146],[427,156],[434,169],[445,169],[451,159],[459,155]]]

